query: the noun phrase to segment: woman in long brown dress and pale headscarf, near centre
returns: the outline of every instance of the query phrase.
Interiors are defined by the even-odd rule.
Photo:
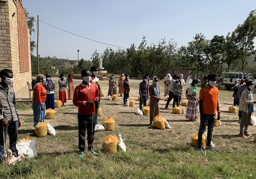
[[[159,100],[160,98],[160,88],[158,86],[158,78],[153,76],[152,85],[149,86],[149,126],[153,126],[154,118],[159,114]]]

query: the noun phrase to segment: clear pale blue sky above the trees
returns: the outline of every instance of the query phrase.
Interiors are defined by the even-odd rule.
[[[242,24],[256,0],[22,0],[30,16],[71,33],[129,48],[146,36],[147,45],[159,39],[174,39],[178,47],[187,46],[196,33],[207,39],[226,36]],[[39,55],[41,57],[84,58],[95,50],[103,53],[106,44],[97,43],[61,31],[39,21]],[[34,23],[36,29],[37,22]],[[37,42],[37,32],[32,39]],[[36,49],[34,50],[36,55]],[[103,62],[104,66],[104,62]]]

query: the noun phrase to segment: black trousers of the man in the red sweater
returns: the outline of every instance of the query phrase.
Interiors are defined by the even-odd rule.
[[[93,114],[93,130],[92,130],[92,115],[83,115],[78,113],[78,148],[79,151],[85,150],[85,133],[87,130],[87,144],[88,150],[93,148],[92,142],[94,141],[94,130],[95,130],[95,113]]]

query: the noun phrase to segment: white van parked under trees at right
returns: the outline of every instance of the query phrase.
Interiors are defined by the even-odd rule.
[[[252,74],[245,72],[244,70],[228,70],[223,78],[223,84],[227,89],[231,89],[237,83],[239,83],[241,79],[245,78],[248,80],[253,80]]]

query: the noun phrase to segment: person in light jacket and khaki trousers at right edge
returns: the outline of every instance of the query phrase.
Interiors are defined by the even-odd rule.
[[[251,121],[251,115],[254,112],[253,104],[256,101],[253,100],[253,81],[246,82],[246,89],[241,94],[241,99],[239,103],[239,109],[242,112],[241,121],[240,121],[240,133],[239,136],[242,138],[247,138],[247,136],[252,137],[251,134],[248,133],[248,126]]]

